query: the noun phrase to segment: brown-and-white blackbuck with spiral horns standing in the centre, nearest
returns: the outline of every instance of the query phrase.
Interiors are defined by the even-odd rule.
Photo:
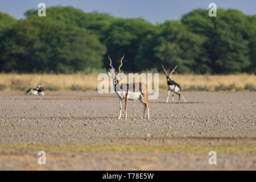
[[[124,57],[124,56],[123,56]],[[120,68],[122,67],[122,60],[120,61],[120,65],[118,67],[118,73],[115,75],[114,68],[112,66],[112,60],[109,57],[110,61],[110,69],[109,76],[113,79],[113,85],[115,93],[117,93],[117,96],[119,97],[120,102],[120,112],[118,119],[121,118],[122,115],[122,101],[125,100],[125,119],[127,118],[127,100],[136,101],[139,100],[143,104],[143,114],[142,119],[144,118],[144,114],[147,107],[147,119],[150,119],[150,113],[149,113],[149,103],[147,101],[147,84],[143,84],[142,82],[136,82],[133,84],[125,84],[125,83],[119,83],[119,79],[121,78],[122,74],[120,71]]]

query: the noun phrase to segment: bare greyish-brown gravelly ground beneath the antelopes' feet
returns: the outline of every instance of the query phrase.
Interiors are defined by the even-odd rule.
[[[150,121],[141,119],[143,106],[139,101],[129,101],[127,120],[118,121],[115,94],[88,91],[24,96],[22,92],[0,92],[0,169],[255,170],[256,93],[183,95],[187,103],[166,104],[167,92],[160,92],[158,100],[150,100]],[[43,150],[43,146],[67,144],[135,146],[134,151],[125,153],[108,148],[80,152],[49,148],[47,165],[37,164],[40,146]],[[185,152],[179,148],[177,152],[175,148],[137,151],[136,144],[187,148]],[[205,145],[220,148],[220,153],[216,151],[217,165],[209,165],[208,152],[202,149]],[[195,146],[198,150],[193,150]],[[224,150],[226,146],[234,151]]]

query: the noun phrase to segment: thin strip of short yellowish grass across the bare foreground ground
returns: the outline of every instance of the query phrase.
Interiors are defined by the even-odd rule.
[[[179,153],[199,154],[211,150],[222,154],[256,154],[254,144],[191,144],[191,143],[101,143],[101,144],[12,144],[0,146],[2,152],[117,152],[117,153]]]

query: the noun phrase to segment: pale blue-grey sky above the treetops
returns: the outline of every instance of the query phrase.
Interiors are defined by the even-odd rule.
[[[232,8],[248,15],[256,14],[256,0],[0,0],[0,11],[20,19],[24,18],[26,10],[38,9],[40,2],[45,3],[46,8],[56,5],[73,6],[85,12],[98,11],[115,17],[142,17],[152,23],[179,19],[199,7],[208,9],[212,2],[216,3],[217,9]]]

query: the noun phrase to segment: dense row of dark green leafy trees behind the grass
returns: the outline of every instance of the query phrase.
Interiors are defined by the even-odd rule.
[[[73,73],[109,69],[108,55],[127,72],[179,65],[179,73],[256,72],[256,15],[196,9],[180,20],[152,24],[73,7],[28,10],[16,20],[0,13],[0,72]]]

